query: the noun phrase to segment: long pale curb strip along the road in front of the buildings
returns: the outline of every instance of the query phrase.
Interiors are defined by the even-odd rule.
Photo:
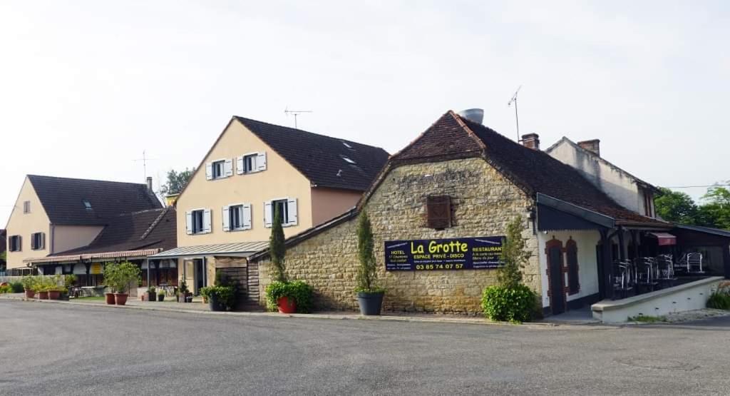
[[[4,300],[15,300],[24,302],[41,302],[45,304],[65,304],[65,305],[83,305],[87,307],[111,308],[111,309],[136,309],[139,311],[158,311],[158,312],[174,312],[174,313],[197,313],[202,315],[220,315],[220,316],[257,316],[269,318],[303,318],[303,319],[336,319],[336,320],[365,320],[365,321],[401,321],[401,322],[420,322],[420,323],[444,323],[444,324],[476,324],[483,326],[519,326],[531,328],[553,328],[553,327],[569,327],[572,324],[556,324],[545,322],[531,322],[527,324],[515,324],[505,321],[488,321],[487,319],[450,319],[450,318],[423,318],[413,316],[361,316],[361,315],[331,315],[327,313],[272,313],[272,312],[217,312],[202,311],[190,309],[177,309],[165,307],[143,307],[139,305],[107,305],[94,302],[76,302],[64,300],[38,300],[26,299],[18,297],[2,297]]]

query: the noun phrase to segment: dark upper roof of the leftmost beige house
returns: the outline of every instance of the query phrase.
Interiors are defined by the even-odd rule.
[[[53,224],[104,225],[120,213],[158,209],[162,205],[146,184],[28,175]],[[86,209],[88,199],[91,209]]]

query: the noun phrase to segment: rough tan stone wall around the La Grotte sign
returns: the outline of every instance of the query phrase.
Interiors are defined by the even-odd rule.
[[[453,226],[426,227],[426,197],[447,194],[453,202]],[[379,278],[388,311],[477,313],[481,292],[496,281],[496,270],[385,271],[385,240],[504,235],[515,216],[524,219],[532,200],[483,159],[411,164],[391,170],[377,188],[367,211],[375,235]],[[288,248],[286,273],[315,289],[319,310],[356,310],[357,220],[334,226]],[[525,283],[541,291],[537,237],[525,220],[523,237],[533,256],[523,270]],[[269,262],[261,262],[261,304],[269,284]]]

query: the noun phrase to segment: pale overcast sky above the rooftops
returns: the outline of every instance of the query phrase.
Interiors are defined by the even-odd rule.
[[[447,110],[600,139],[658,186],[730,179],[726,1],[0,2],[0,226],[26,174],[144,183],[232,115],[395,153]],[[704,188],[681,189],[695,198]]]

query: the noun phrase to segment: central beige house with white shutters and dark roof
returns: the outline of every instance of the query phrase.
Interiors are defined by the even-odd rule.
[[[180,259],[197,292],[223,261],[245,265],[237,258],[266,246],[274,208],[296,235],[354,207],[387,160],[382,148],[231,118],[177,197],[178,248],[155,257]]]

